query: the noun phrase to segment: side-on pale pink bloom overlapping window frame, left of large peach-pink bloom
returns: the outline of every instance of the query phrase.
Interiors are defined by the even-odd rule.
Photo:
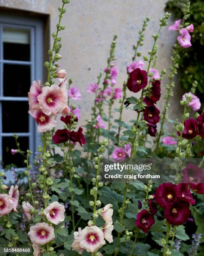
[[[33,81],[32,85],[30,87],[30,92],[28,92],[28,103],[30,105],[30,108],[38,108],[38,100],[37,97],[41,94],[42,92],[42,87],[40,86],[41,82],[40,80]]]

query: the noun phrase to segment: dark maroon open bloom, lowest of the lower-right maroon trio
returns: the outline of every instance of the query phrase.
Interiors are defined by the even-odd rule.
[[[164,218],[167,219],[169,224],[182,225],[184,224],[190,215],[189,203],[187,202],[174,202],[164,210]]]

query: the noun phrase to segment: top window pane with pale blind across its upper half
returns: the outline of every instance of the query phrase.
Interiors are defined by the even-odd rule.
[[[20,28],[3,28],[4,59],[30,61],[30,31]]]

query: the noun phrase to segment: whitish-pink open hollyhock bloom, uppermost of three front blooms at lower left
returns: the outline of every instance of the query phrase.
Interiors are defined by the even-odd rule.
[[[65,206],[59,202],[52,202],[45,208],[43,213],[46,215],[47,220],[54,223],[55,225],[65,220]]]

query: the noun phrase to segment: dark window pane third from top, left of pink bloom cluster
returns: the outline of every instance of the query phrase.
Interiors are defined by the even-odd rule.
[[[3,133],[27,133],[28,102],[2,101]]]

